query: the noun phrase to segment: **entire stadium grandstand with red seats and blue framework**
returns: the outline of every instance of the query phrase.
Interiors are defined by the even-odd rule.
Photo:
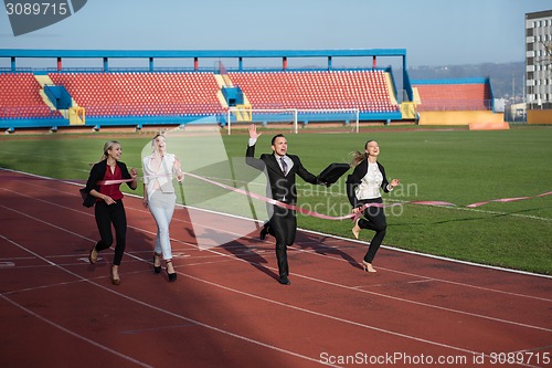
[[[112,67],[110,60],[147,59],[148,67]],[[294,123],[426,122],[422,113],[485,111],[493,113],[490,82],[422,81],[407,73],[404,49],[272,51],[95,51],[0,49],[0,127],[83,125],[135,126],[187,124],[208,117],[221,126],[233,120],[268,124],[295,115]],[[23,69],[21,57],[56,60],[56,69]],[[64,66],[65,59],[100,59],[102,67]],[[280,59],[280,67],[244,67],[248,60]],[[318,66],[288,67],[288,57],[315,57]],[[365,57],[370,57],[367,63]],[[378,57],[401,64],[378,65]],[[159,59],[193,60],[193,69],[157,66]],[[203,66],[201,60],[219,60]],[[229,60],[231,67],[221,61]],[[326,65],[320,65],[320,59]],[[333,63],[355,60],[355,67]],[[9,64],[6,63],[8,61]],[[323,62],[322,62],[323,63]],[[169,63],[171,64],[171,63]],[[237,65],[235,65],[237,64]],[[261,63],[264,64],[264,63]],[[396,77],[396,80],[395,80]],[[467,78],[469,80],[469,78]],[[395,82],[396,81],[396,82]],[[428,82],[428,83],[426,83]],[[47,87],[45,87],[47,86]],[[43,90],[44,88],[44,90]],[[59,108],[57,111],[55,108]],[[278,111],[267,116],[267,111]],[[351,112],[353,112],[351,115]],[[280,114],[280,115],[278,115]],[[352,116],[352,117],[351,117]],[[455,118],[466,123],[467,115]],[[435,120],[444,120],[439,116]],[[488,117],[485,117],[486,119]],[[286,118],[287,119],[287,118]],[[473,118],[469,118],[471,122]],[[358,124],[357,124],[358,126]]]

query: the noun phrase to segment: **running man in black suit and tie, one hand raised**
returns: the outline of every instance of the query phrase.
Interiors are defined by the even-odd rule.
[[[268,179],[267,197],[288,203],[297,203],[297,189],[295,175],[312,185],[320,183],[316,176],[305,169],[299,157],[287,155],[287,140],[282,134],[272,139],[273,154],[263,154],[261,158],[255,158],[255,144],[262,133],[257,134],[255,124],[250,126],[250,141],[245,154],[247,165],[265,171]],[[268,230],[263,229],[276,238],[276,259],[278,261],[279,278],[283,285],[289,285],[289,267],[287,264],[287,245],[293,245],[297,232],[296,211],[288,210],[279,206],[268,206],[268,217],[270,218]],[[262,233],[263,236],[263,233]]]

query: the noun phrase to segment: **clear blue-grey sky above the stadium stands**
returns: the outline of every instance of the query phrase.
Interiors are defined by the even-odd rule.
[[[0,49],[405,49],[408,66],[521,62],[524,14],[551,9],[550,0],[88,0],[18,36],[0,12]]]

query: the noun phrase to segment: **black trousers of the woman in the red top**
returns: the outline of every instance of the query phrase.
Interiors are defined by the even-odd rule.
[[[115,256],[113,264],[119,265],[125,253],[127,242],[127,215],[123,200],[116,201],[114,204],[107,204],[104,201],[96,202],[94,214],[96,215],[96,224],[98,227],[100,241],[96,243],[96,251],[102,252],[113,244],[112,223],[115,229]]]

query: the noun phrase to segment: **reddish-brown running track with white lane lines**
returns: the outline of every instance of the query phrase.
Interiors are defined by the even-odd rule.
[[[78,188],[21,179],[0,171],[2,367],[552,366],[551,278],[390,249],[368,274],[364,243],[300,232],[283,286],[273,238],[200,251],[179,209],[169,284],[152,272],[155,222],[127,196],[113,286],[113,252],[88,264],[98,235]],[[221,221],[242,220],[194,227]]]

